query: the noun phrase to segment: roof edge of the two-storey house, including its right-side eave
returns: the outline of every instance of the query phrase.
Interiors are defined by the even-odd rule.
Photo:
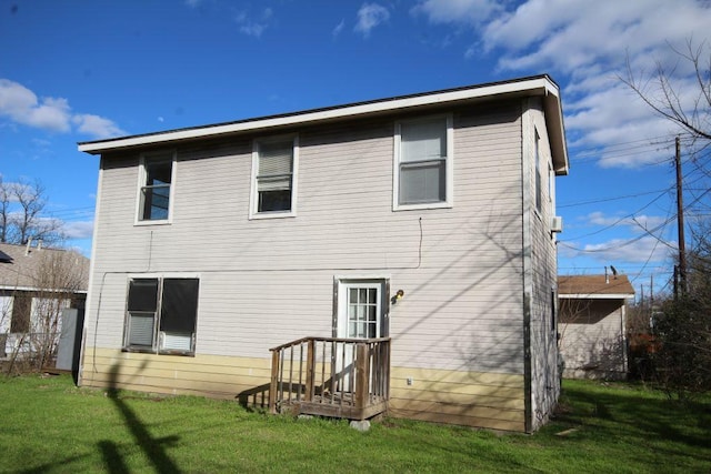
[[[229,137],[239,133],[276,130],[301,124],[317,124],[349,118],[362,119],[395,111],[424,111],[434,107],[453,107],[480,103],[493,99],[505,100],[524,97],[540,97],[543,100],[553,167],[558,174],[568,174],[568,150],[565,147],[560,91],[558,84],[547,74],[322,109],[311,109],[279,115],[260,117],[234,122],[80,142],[79,151],[100,154],[136,147],[153,144],[170,145],[198,139]]]

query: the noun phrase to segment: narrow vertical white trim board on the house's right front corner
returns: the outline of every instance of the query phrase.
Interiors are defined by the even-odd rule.
[[[532,137],[530,130],[530,113],[528,100],[521,101],[521,220],[522,220],[522,275],[521,283],[523,289],[523,420],[524,431],[531,433],[533,431],[533,390],[532,390],[532,361],[531,361],[531,296],[532,296],[532,278],[531,278],[531,180],[530,167],[528,165],[528,157],[530,157],[529,137]]]

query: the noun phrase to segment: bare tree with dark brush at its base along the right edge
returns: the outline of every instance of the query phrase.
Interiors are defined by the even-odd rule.
[[[654,344],[650,362],[657,382],[670,396],[689,399],[711,391],[711,231],[705,218],[709,209],[711,178],[711,49],[702,42],[687,41],[684,50],[673,49],[677,63],[671,68],[657,63],[650,77],[637,74],[628,60],[625,78],[620,78],[658,115],[678,125],[691,137],[685,181],[694,188],[691,205],[682,212],[695,211],[689,225],[692,244],[684,252],[688,265],[688,291],[679,297],[661,302],[654,315]],[[691,180],[691,177],[694,177]]]

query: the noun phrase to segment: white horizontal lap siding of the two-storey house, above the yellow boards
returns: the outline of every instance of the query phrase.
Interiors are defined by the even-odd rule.
[[[134,225],[139,152],[144,150],[104,157],[86,315],[84,366],[90,369],[83,380],[99,381],[98,374],[121,363],[97,357],[122,347],[129,275],[199,275],[196,353],[263,360],[269,347],[332,335],[334,276],[387,276],[391,292],[405,293],[390,311],[393,377],[412,375],[417,389],[418,370],[521,376],[511,394],[501,395],[512,401],[519,420],[524,373],[521,103],[434,113],[441,112],[454,112],[452,209],[392,211],[394,121],[408,115],[280,131],[299,134],[296,218],[248,219],[252,135],[177,149],[170,224]],[[538,127],[542,113],[525,120]],[[530,231],[540,232],[541,225]],[[544,266],[532,280],[538,324],[550,300],[539,293],[550,292],[555,275],[551,243],[535,243],[533,264]],[[548,336],[535,331],[534,350],[548,351]],[[161,364],[181,365],[190,359],[158,357]],[[547,383],[543,379],[537,369],[535,383]],[[137,380],[126,385],[140,387]],[[143,386],[156,389],[151,383]],[[442,403],[450,399],[431,393]],[[515,423],[507,426],[519,428]]]

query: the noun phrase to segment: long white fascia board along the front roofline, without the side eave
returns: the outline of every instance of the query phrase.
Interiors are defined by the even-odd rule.
[[[264,130],[276,127],[294,125],[301,123],[313,123],[336,119],[368,115],[379,112],[409,109],[422,105],[448,104],[485,97],[502,94],[528,93],[528,94],[551,94],[559,98],[558,87],[548,77],[538,77],[528,80],[502,82],[491,85],[472,87],[468,89],[457,89],[451,91],[434,92],[413,97],[383,99],[368,103],[343,105],[326,110],[314,110],[297,112],[281,117],[271,117],[242,122],[231,122],[208,127],[197,127],[167,132],[150,133],[144,135],[133,135],[120,139],[109,139],[94,142],[79,143],[79,151],[91,154],[99,154],[104,151],[117,150],[129,147],[140,147],[148,144],[159,144],[173,141],[192,140],[199,138],[219,137],[221,134],[247,132],[253,130]]]

